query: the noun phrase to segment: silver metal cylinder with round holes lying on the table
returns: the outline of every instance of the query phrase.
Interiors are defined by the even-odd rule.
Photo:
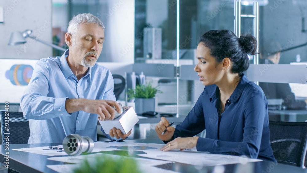
[[[63,140],[64,151],[69,155],[80,155],[82,153],[90,153],[94,148],[94,141],[88,136],[80,136],[71,134]]]

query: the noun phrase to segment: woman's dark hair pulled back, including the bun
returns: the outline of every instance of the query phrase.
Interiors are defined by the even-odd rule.
[[[200,42],[209,48],[217,62],[229,58],[232,62],[231,73],[239,73],[239,77],[249,67],[247,54],[257,54],[257,40],[250,34],[238,38],[230,30],[211,30],[200,37]]]

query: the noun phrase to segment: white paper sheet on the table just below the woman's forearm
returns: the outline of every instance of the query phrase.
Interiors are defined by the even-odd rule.
[[[173,151],[146,151],[147,154],[138,154],[139,156],[169,160],[173,162],[186,163],[197,166],[215,166],[235,163],[259,162],[260,159],[249,159],[246,157],[234,155],[210,154],[204,152],[173,152]],[[197,159],[196,159],[197,158]]]

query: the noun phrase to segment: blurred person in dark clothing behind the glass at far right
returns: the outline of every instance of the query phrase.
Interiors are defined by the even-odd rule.
[[[261,53],[262,63],[278,64],[282,47],[277,41],[271,41],[263,46]],[[285,83],[259,83],[267,99],[283,99],[283,104],[287,109],[306,109],[306,102],[295,100],[295,95],[291,91],[289,84]]]

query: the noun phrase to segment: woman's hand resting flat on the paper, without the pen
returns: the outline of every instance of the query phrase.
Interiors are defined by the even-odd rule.
[[[175,148],[185,149],[185,148],[193,148],[196,147],[198,140],[198,136],[195,137],[187,137],[187,138],[175,138],[172,141],[169,141],[166,145],[164,145],[160,150],[169,151]]]

